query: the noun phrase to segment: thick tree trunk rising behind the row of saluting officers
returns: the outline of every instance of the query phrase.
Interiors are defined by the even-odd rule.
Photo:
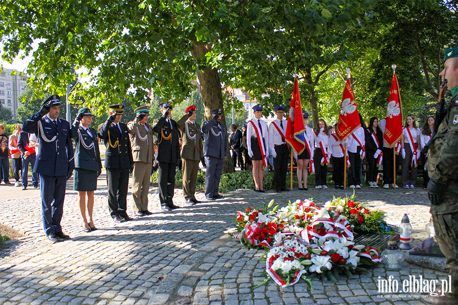
[[[192,56],[200,62],[205,60],[205,54],[211,49],[211,45],[202,41],[194,41],[192,45]],[[223,109],[221,123],[226,126],[226,116],[224,114],[224,106],[222,100],[221,81],[219,79],[218,70],[209,66],[199,67],[197,77],[201,84],[202,102],[204,104],[204,118],[210,120],[212,118],[210,111],[213,109]],[[229,139],[226,137],[227,147]],[[231,155],[227,149],[227,155],[224,157],[223,173],[234,172]]]

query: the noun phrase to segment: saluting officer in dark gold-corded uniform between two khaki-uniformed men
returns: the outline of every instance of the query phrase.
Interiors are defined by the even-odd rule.
[[[154,125],[157,133],[157,161],[159,162],[159,202],[164,211],[180,208],[173,202],[175,190],[175,172],[180,159],[180,143],[177,122],[170,118],[171,104],[159,105],[162,116]]]

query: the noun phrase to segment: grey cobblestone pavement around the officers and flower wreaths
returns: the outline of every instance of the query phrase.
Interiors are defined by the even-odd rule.
[[[12,192],[11,198],[14,191],[0,188]],[[228,236],[236,210],[260,207],[271,199],[282,206],[290,199],[323,203],[345,194],[334,189],[280,194],[238,190],[217,201],[188,206],[176,189],[174,202],[183,208],[162,212],[157,188],[151,187],[149,209],[154,214],[116,224],[109,217],[102,187],[95,192],[94,223],[99,230],[84,233],[76,192],[68,188],[62,225],[72,239],[53,244],[43,234],[40,198],[5,200],[0,221],[25,237],[0,245],[0,304],[419,304],[415,295],[378,292],[379,277],[393,276],[399,283],[409,275],[439,283],[446,277],[406,262],[400,271],[386,271],[380,264],[336,283],[311,277],[313,291],[303,280],[284,289],[272,281],[252,288],[265,279],[265,262],[260,260],[265,252],[246,249]],[[408,213],[414,244],[426,237],[426,191],[363,188],[356,196],[385,210],[390,224],[398,225]],[[196,197],[205,198],[202,193]],[[128,214],[133,217],[130,193]]]

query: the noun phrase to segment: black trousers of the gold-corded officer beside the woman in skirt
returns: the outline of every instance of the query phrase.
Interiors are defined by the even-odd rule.
[[[129,186],[128,168],[107,168],[108,207],[110,216],[127,216],[127,189]]]

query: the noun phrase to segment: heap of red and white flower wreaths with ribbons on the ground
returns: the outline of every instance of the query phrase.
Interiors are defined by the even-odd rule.
[[[377,249],[356,245],[356,233],[385,233],[384,212],[370,210],[351,198],[334,198],[323,207],[312,200],[288,206],[237,212],[234,237],[247,247],[267,248],[266,272],[286,287],[310,273],[335,278],[351,275],[365,265],[381,261]],[[382,225],[382,226],[381,226]]]

